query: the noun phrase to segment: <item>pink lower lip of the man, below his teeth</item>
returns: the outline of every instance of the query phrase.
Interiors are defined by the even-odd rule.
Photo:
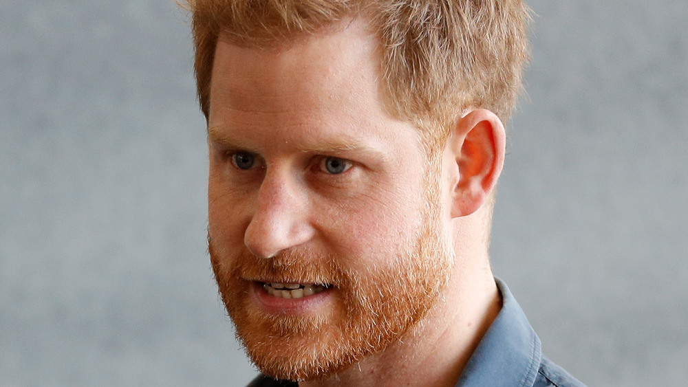
[[[263,289],[262,282],[251,281],[250,296],[266,313],[282,315],[299,315],[317,313],[332,302],[333,291],[327,288],[318,294],[303,298],[281,298],[270,296]]]

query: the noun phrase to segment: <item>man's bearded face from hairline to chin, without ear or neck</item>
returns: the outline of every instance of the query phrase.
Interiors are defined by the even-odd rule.
[[[449,277],[439,157],[385,111],[375,52],[358,22],[279,49],[217,45],[211,261],[269,375],[323,376],[384,349]]]

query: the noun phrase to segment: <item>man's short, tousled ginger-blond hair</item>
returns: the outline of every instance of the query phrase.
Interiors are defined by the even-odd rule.
[[[444,137],[438,128],[448,133],[466,109],[489,109],[506,122],[521,91],[528,59],[530,15],[521,0],[187,0],[187,4],[192,12],[197,92],[206,119],[221,35],[237,45],[261,47],[327,32],[339,21],[365,19],[380,41],[387,109],[421,129],[434,128],[438,137]]]

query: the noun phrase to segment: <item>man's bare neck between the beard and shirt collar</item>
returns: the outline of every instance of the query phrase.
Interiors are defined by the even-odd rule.
[[[335,375],[299,386],[454,386],[502,307],[486,249],[480,250],[457,252],[442,299],[401,340]],[[471,258],[461,258],[466,256]]]

